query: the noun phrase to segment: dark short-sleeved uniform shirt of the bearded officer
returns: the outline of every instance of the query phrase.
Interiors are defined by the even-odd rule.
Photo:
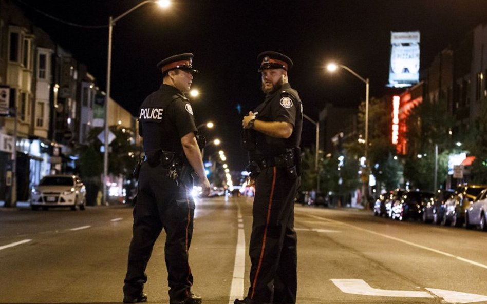
[[[286,83],[275,92],[266,95],[264,103],[255,110],[256,119],[262,121],[284,121],[293,126],[289,138],[276,138],[256,132],[256,155],[276,156],[286,148],[299,147],[303,125],[303,106],[296,90]]]

